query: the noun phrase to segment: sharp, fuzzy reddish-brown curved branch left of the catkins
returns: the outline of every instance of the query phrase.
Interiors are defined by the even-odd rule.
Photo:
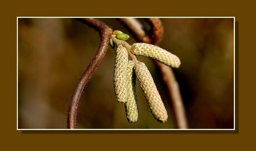
[[[86,67],[85,71],[83,71],[83,74],[80,80],[78,81],[76,89],[72,94],[72,97],[70,100],[70,107],[68,108],[68,118],[67,118],[67,128],[71,128],[71,129],[74,129],[77,127],[77,108],[78,108],[82,91],[85,88],[85,85],[88,83],[88,80],[90,80],[93,73],[95,73],[97,67],[99,67],[102,59],[104,58],[107,52],[107,48],[109,47],[109,37],[112,34],[112,29],[108,27],[105,23],[102,23],[97,19],[81,18],[79,20],[95,28],[97,31],[99,31],[101,42],[92,61]]]

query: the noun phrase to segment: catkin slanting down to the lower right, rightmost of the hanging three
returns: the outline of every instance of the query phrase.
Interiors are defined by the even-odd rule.
[[[142,62],[137,62],[134,66],[134,71],[154,118],[160,123],[165,122],[168,115],[154,80],[146,65]]]

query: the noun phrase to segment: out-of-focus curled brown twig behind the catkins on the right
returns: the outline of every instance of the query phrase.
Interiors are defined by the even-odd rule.
[[[159,18],[147,19],[147,22],[149,22],[151,26],[151,37],[147,36],[146,32],[142,28],[142,24],[139,26],[130,26],[131,23],[137,24],[139,22],[137,19],[122,18],[120,20],[123,23],[129,23],[127,24],[127,27],[129,27],[131,31],[134,32],[135,36],[140,36],[137,37],[137,39],[141,39],[141,42],[157,44],[163,37],[164,29]],[[156,67],[160,69],[162,78],[166,87],[168,88],[169,97],[171,98],[171,104],[174,111],[176,127],[181,129],[188,128],[183,100],[180,95],[179,84],[176,82],[173,70],[158,61],[154,60],[154,63]]]

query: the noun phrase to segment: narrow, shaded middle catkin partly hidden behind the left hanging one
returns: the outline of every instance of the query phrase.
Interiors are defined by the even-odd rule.
[[[127,102],[125,103],[126,118],[130,123],[138,119],[138,102],[136,94],[136,75],[134,72],[134,62],[128,62],[127,68]]]

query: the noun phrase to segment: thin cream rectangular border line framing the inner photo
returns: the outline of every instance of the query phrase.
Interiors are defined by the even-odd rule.
[[[190,130],[227,130],[227,131],[230,131],[230,130],[235,130],[235,17],[157,17],[157,18],[233,18],[234,19],[234,128],[233,129],[21,129],[21,128],[18,128],[18,18],[91,18],[91,17],[17,17],[17,27],[16,27],[16,41],[17,41],[17,54],[16,54],[16,61],[17,61],[17,67],[16,67],[16,76],[17,76],[17,83],[16,83],[16,87],[17,87],[17,97],[16,97],[16,120],[17,120],[17,123],[16,123],[16,127],[17,129],[16,130],[111,130],[111,131],[114,131],[114,130],[160,130],[160,131],[163,131],[163,130],[179,130],[179,131],[190,131]],[[156,17],[92,17],[92,18],[156,18]]]

